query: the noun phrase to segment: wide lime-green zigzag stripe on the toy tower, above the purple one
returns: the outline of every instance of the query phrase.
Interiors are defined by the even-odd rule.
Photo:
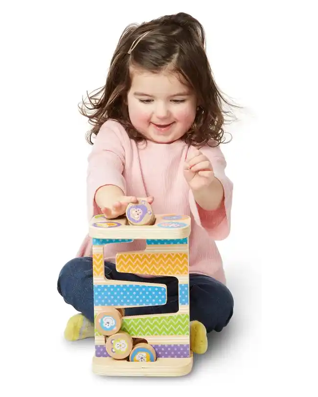
[[[138,335],[188,335],[189,315],[123,318],[122,331]]]

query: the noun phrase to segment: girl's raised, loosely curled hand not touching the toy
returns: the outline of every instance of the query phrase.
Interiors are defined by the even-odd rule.
[[[193,191],[208,187],[215,178],[210,160],[198,149],[186,159],[183,175]]]

